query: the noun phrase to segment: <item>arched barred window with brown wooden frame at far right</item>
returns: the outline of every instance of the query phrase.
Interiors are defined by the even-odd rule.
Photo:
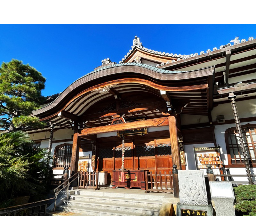
[[[256,124],[242,125],[241,128],[249,162],[256,164]],[[226,130],[225,140],[228,153],[228,164],[244,164],[240,141],[235,127]]]

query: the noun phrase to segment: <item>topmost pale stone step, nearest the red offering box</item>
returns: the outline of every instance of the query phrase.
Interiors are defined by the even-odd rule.
[[[132,192],[131,190],[127,190],[122,193],[113,189],[113,192],[104,192],[104,190],[93,191],[93,190],[79,190],[78,195],[86,195],[86,196],[108,196],[108,197],[122,197],[122,198],[132,198],[132,199],[147,199],[147,200],[158,200],[162,201],[163,197],[166,195],[165,193],[142,193]],[[136,191],[136,190],[135,190]],[[76,192],[77,193],[77,192]]]

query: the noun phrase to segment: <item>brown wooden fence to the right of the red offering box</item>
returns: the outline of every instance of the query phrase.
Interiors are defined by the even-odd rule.
[[[173,192],[173,182],[172,182],[172,173],[171,171],[166,174],[163,174],[161,171],[159,174],[156,172],[145,172],[145,184],[146,184],[146,191],[148,193],[150,191],[169,191]]]

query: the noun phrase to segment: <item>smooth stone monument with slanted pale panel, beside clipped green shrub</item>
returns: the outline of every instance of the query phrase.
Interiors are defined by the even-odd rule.
[[[215,203],[216,216],[235,216],[235,195],[231,182],[209,181],[211,197]]]

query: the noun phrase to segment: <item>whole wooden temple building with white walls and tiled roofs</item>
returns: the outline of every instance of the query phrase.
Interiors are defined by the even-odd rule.
[[[25,131],[50,149],[55,174],[65,167],[99,171],[107,173],[106,185],[122,167],[123,140],[125,170],[168,173],[173,164],[178,170],[212,164],[219,174],[252,172],[256,39],[231,43],[181,55],[145,48],[135,36],[119,63],[102,60],[33,111],[49,127]]]

